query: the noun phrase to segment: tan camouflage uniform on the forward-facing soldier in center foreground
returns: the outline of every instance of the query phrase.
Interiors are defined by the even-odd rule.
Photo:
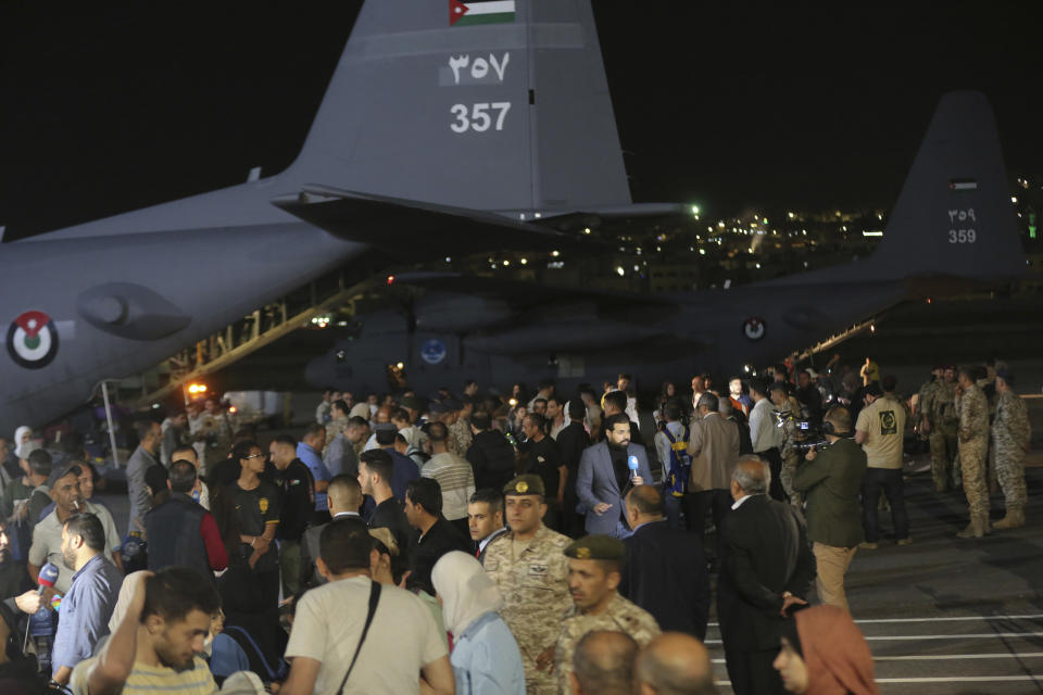
[[[563,554],[571,542],[541,526],[529,541],[515,541],[514,533],[507,533],[486,548],[486,572],[503,594],[500,615],[522,650],[529,695],[557,692],[554,675],[550,669],[538,671],[536,659],[554,646],[562,617],[573,606]]]

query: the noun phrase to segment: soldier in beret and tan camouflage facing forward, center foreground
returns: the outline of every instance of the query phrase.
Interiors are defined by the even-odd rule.
[[[554,644],[562,617],[571,607],[568,560],[573,542],[543,526],[543,480],[518,476],[503,489],[508,533],[486,547],[485,568],[503,594],[503,617],[522,650],[529,695],[553,695]]]

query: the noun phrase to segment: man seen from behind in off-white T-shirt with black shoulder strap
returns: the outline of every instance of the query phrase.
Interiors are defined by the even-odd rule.
[[[319,539],[318,571],[328,584],[301,597],[286,647],[292,659],[284,695],[335,695],[360,645],[373,590],[373,540],[359,519],[337,519]],[[343,687],[352,693],[454,692],[442,628],[412,593],[378,584],[373,622]],[[417,677],[419,673],[419,678]]]

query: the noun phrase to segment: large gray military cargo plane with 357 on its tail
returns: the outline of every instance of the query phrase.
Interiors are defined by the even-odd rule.
[[[0,247],[0,431],[374,241],[556,249],[568,239],[532,220],[673,208],[631,204],[588,0],[369,0],[289,168]]]

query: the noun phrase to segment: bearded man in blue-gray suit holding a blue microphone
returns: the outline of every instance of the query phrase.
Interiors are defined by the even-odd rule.
[[[623,498],[631,485],[652,482],[644,446],[630,442],[630,417],[617,413],[605,418],[605,440],[587,448],[579,459],[576,495],[587,510],[587,533],[615,538],[630,534],[623,522]],[[631,472],[628,459],[638,459]]]

